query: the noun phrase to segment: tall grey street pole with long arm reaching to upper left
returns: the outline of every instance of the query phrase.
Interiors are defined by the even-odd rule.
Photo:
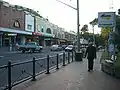
[[[62,2],[62,1],[60,1],[60,0],[56,0],[56,1],[58,1],[58,2],[60,2],[60,3],[62,3],[62,4],[64,4],[64,5],[68,6],[68,7],[72,8],[72,9],[74,9],[74,10],[77,10],[77,46],[78,46],[78,52],[80,52],[80,35],[79,35],[79,26],[80,26],[80,24],[79,24],[79,0],[77,0],[77,8],[75,8],[75,7],[71,6],[71,5],[68,5],[68,4],[66,4],[66,3],[64,3],[64,2]]]

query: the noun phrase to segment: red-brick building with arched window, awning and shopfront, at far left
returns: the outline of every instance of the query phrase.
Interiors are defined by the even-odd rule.
[[[24,36],[32,35],[25,31],[25,15],[22,9],[10,5],[7,2],[1,2],[0,5],[0,42],[1,46],[25,42]]]

